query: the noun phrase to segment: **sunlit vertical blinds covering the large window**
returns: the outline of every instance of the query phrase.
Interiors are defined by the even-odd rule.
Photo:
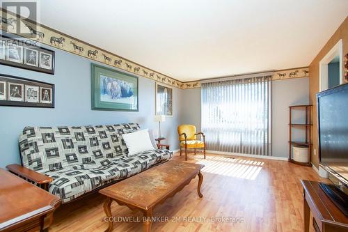
[[[271,155],[271,76],[202,84],[207,150]]]

